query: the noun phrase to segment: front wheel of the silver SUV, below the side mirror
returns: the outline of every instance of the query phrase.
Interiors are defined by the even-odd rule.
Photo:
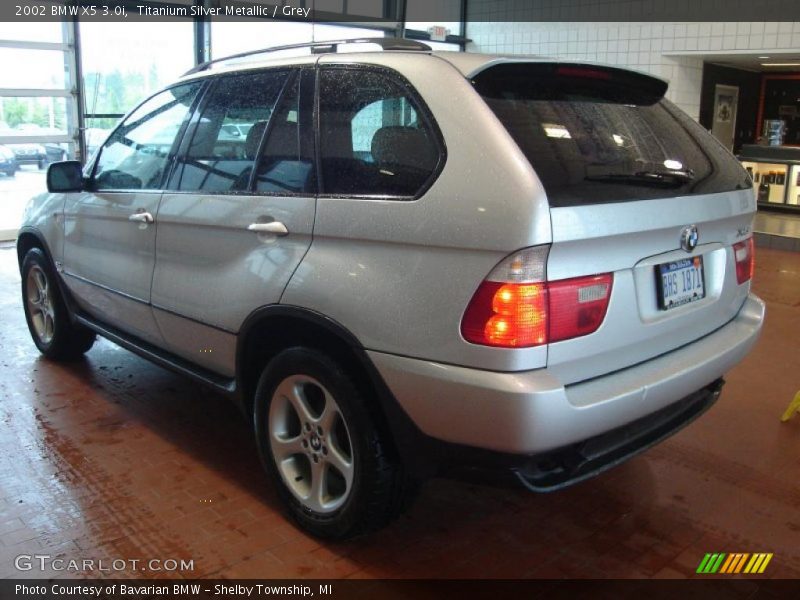
[[[22,305],[33,343],[46,357],[74,360],[94,344],[94,332],[70,319],[50,261],[39,248],[22,261]]]

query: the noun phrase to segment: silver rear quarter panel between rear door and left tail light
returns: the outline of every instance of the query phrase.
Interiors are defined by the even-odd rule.
[[[368,349],[494,370],[543,367],[546,350],[467,343],[464,309],[504,256],[550,242],[549,209],[525,157],[469,82],[427,55],[328,55],[371,63],[416,88],[447,159],[417,200],[321,197],[312,246],[282,303],[317,310]]]

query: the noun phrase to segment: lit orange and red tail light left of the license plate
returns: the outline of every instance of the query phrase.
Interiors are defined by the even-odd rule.
[[[461,334],[473,344],[524,348],[597,331],[611,297],[610,273],[545,281],[547,246],[495,267],[472,297]]]

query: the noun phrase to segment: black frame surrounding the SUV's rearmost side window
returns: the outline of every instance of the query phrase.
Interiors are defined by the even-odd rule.
[[[347,71],[371,71],[373,73],[379,73],[388,77],[389,79],[393,80],[394,83],[400,86],[400,88],[406,92],[408,98],[411,100],[413,104],[413,108],[417,111],[417,118],[424,123],[424,125],[428,128],[428,131],[431,132],[433,136],[433,141],[436,144],[436,150],[438,151],[438,161],[436,163],[436,167],[433,169],[431,174],[425,180],[425,183],[422,184],[419,190],[414,195],[402,195],[402,194],[331,194],[325,192],[325,180],[322,176],[322,146],[321,146],[321,136],[322,136],[322,109],[320,104],[320,90],[322,88],[322,73],[323,71],[331,71],[331,70],[347,70]],[[442,171],[444,170],[445,164],[447,163],[447,145],[444,141],[444,136],[442,135],[441,130],[439,129],[439,124],[436,122],[436,119],[433,117],[433,113],[431,112],[428,105],[422,99],[422,96],[419,92],[417,92],[416,88],[411,85],[411,82],[408,81],[399,71],[396,69],[392,69],[390,67],[385,67],[382,65],[366,65],[366,64],[323,64],[320,65],[317,63],[316,65],[316,81],[314,86],[314,136],[315,140],[315,154],[317,158],[317,197],[318,198],[338,198],[338,199],[354,199],[354,200],[394,200],[394,201],[414,201],[419,200],[422,196],[428,193],[430,188],[439,178]]]

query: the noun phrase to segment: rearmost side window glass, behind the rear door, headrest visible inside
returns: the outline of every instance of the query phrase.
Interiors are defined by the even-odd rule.
[[[321,72],[320,150],[325,194],[415,196],[440,160],[409,91],[368,69]]]

